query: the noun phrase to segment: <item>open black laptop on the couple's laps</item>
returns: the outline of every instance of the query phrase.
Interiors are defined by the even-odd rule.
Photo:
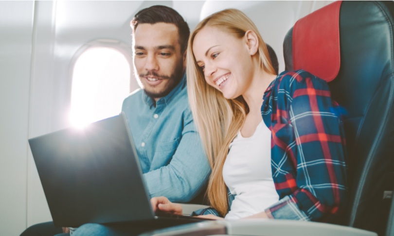
[[[29,144],[55,226],[204,220],[155,216],[124,113],[30,138]]]

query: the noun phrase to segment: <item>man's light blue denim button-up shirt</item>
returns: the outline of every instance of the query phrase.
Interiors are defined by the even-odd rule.
[[[150,197],[189,202],[205,186],[211,168],[187,98],[186,77],[155,102],[142,89],[123,102]]]

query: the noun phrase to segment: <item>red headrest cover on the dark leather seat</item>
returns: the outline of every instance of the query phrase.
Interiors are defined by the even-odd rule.
[[[327,82],[340,69],[339,14],[333,2],[299,19],[293,27],[293,68],[304,69]]]

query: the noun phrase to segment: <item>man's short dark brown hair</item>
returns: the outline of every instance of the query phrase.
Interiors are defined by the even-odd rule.
[[[180,50],[183,53],[186,50],[187,40],[190,34],[189,26],[183,17],[181,17],[179,13],[171,7],[155,5],[144,8],[135,14],[134,18],[131,20],[131,25],[133,27],[133,32],[135,32],[138,24],[155,24],[159,22],[171,23],[177,26]]]

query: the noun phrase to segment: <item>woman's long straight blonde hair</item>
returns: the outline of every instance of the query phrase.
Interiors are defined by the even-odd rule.
[[[196,34],[205,26],[217,27],[237,38],[244,37],[248,30],[253,31],[258,37],[259,48],[255,56],[259,59],[260,68],[269,74],[275,74],[275,71],[257,27],[239,10],[226,9],[203,19],[190,35],[186,56],[187,92],[197,130],[212,167],[207,196],[211,206],[225,216],[229,206],[222,175],[223,165],[229,145],[244,124],[249,107],[242,96],[226,99],[220,91],[205,82],[192,49]]]

